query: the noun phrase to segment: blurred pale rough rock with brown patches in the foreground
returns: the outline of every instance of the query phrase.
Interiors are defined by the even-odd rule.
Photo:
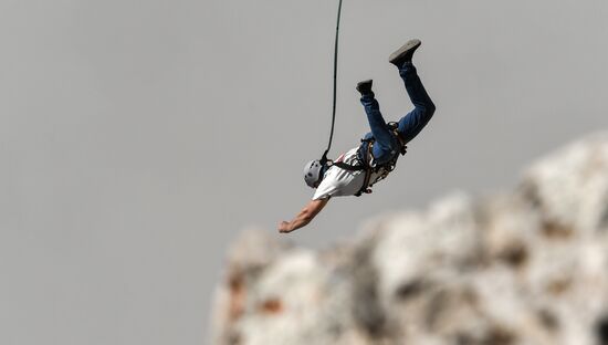
[[[228,255],[214,344],[608,344],[608,133],[511,192],[455,194],[315,252],[249,231]]]

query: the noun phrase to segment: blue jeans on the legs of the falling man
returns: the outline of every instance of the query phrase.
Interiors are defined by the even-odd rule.
[[[434,104],[427,94],[424,86],[416,67],[411,63],[406,63],[399,69],[399,75],[406,84],[408,95],[413,103],[413,111],[399,119],[398,130],[405,138],[406,143],[413,139],[422,128],[431,119],[434,113]],[[371,155],[377,165],[390,161],[396,155],[400,153],[399,139],[388,129],[388,126],[380,113],[380,105],[374,97],[374,93],[361,96],[361,104],[367,114],[367,121],[369,122],[370,133],[364,136],[364,139],[375,138]],[[367,143],[361,145],[361,150],[367,149]]]

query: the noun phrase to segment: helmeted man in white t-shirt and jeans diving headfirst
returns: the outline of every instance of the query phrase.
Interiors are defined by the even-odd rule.
[[[343,154],[336,161],[317,159],[304,167],[304,180],[310,187],[316,188],[315,195],[292,221],[279,224],[280,232],[287,233],[310,223],[332,197],[371,192],[370,187],[395,169],[399,154],[406,153],[406,144],[422,130],[434,113],[434,104],[411,62],[420,44],[419,40],[410,40],[388,60],[399,69],[413,111],[399,122],[387,124],[374,97],[371,80],[358,83],[357,91],[361,94],[361,104],[371,132],[364,136],[358,147]]]

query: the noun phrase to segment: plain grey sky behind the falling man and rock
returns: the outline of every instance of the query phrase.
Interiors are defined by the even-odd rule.
[[[203,344],[224,251],[312,196],[327,140],[337,1],[0,1],[0,343]],[[438,106],[386,182],[291,240],[324,247],[454,189],[513,186],[606,128],[604,0],[345,0],[333,156],[410,109],[388,55]]]

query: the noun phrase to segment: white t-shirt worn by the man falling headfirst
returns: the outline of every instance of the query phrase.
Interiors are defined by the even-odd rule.
[[[354,165],[357,159],[357,150],[355,147],[346,154],[342,155],[336,161],[344,161]],[[375,181],[380,174],[371,174],[370,181]],[[349,171],[336,166],[329,167],[318,185],[313,200],[326,199],[328,197],[345,197],[354,196],[359,191],[365,181],[365,170]]]

